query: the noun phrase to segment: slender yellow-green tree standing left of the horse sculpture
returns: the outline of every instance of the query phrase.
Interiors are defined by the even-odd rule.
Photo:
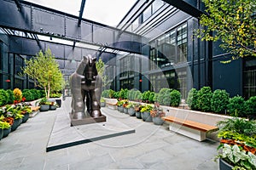
[[[46,98],[49,98],[51,92],[61,90],[64,78],[49,48],[45,53],[40,50],[35,57],[25,60],[25,63],[23,73],[32,78],[38,87],[44,88]]]

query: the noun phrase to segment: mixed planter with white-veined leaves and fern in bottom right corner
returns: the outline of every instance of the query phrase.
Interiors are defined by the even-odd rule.
[[[220,170],[256,169],[256,122],[234,117],[218,127]]]

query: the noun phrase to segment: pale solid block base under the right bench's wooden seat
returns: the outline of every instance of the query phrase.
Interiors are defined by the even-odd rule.
[[[207,139],[207,133],[206,132],[202,132],[200,130],[196,130],[190,127],[184,127],[180,124],[177,124],[175,122],[172,122],[169,125],[169,129],[175,133],[180,133],[183,134],[184,136],[187,136],[191,139],[195,139],[198,141],[203,141],[205,139]]]

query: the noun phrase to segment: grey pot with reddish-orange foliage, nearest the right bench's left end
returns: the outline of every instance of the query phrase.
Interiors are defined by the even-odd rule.
[[[160,104],[156,102],[154,109],[150,111],[150,116],[152,116],[152,121],[155,125],[162,125],[165,121],[161,117],[166,116],[166,113],[160,108]]]

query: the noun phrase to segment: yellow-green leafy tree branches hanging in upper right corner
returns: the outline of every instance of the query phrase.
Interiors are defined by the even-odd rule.
[[[232,59],[256,57],[256,1],[203,0],[203,3],[207,14],[201,15],[200,24],[206,29],[198,29],[196,35],[201,40],[220,40],[220,48],[232,54]]]

